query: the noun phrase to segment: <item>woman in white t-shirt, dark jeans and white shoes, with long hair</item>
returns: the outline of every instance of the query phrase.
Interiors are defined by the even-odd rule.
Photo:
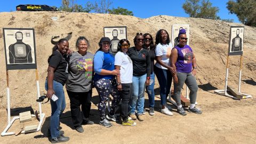
[[[156,64],[154,67],[156,77],[160,85],[161,113],[172,116],[172,112],[166,107],[166,100],[170,93],[172,73],[175,73],[169,61],[172,43],[166,30],[160,29],[156,34]]]

